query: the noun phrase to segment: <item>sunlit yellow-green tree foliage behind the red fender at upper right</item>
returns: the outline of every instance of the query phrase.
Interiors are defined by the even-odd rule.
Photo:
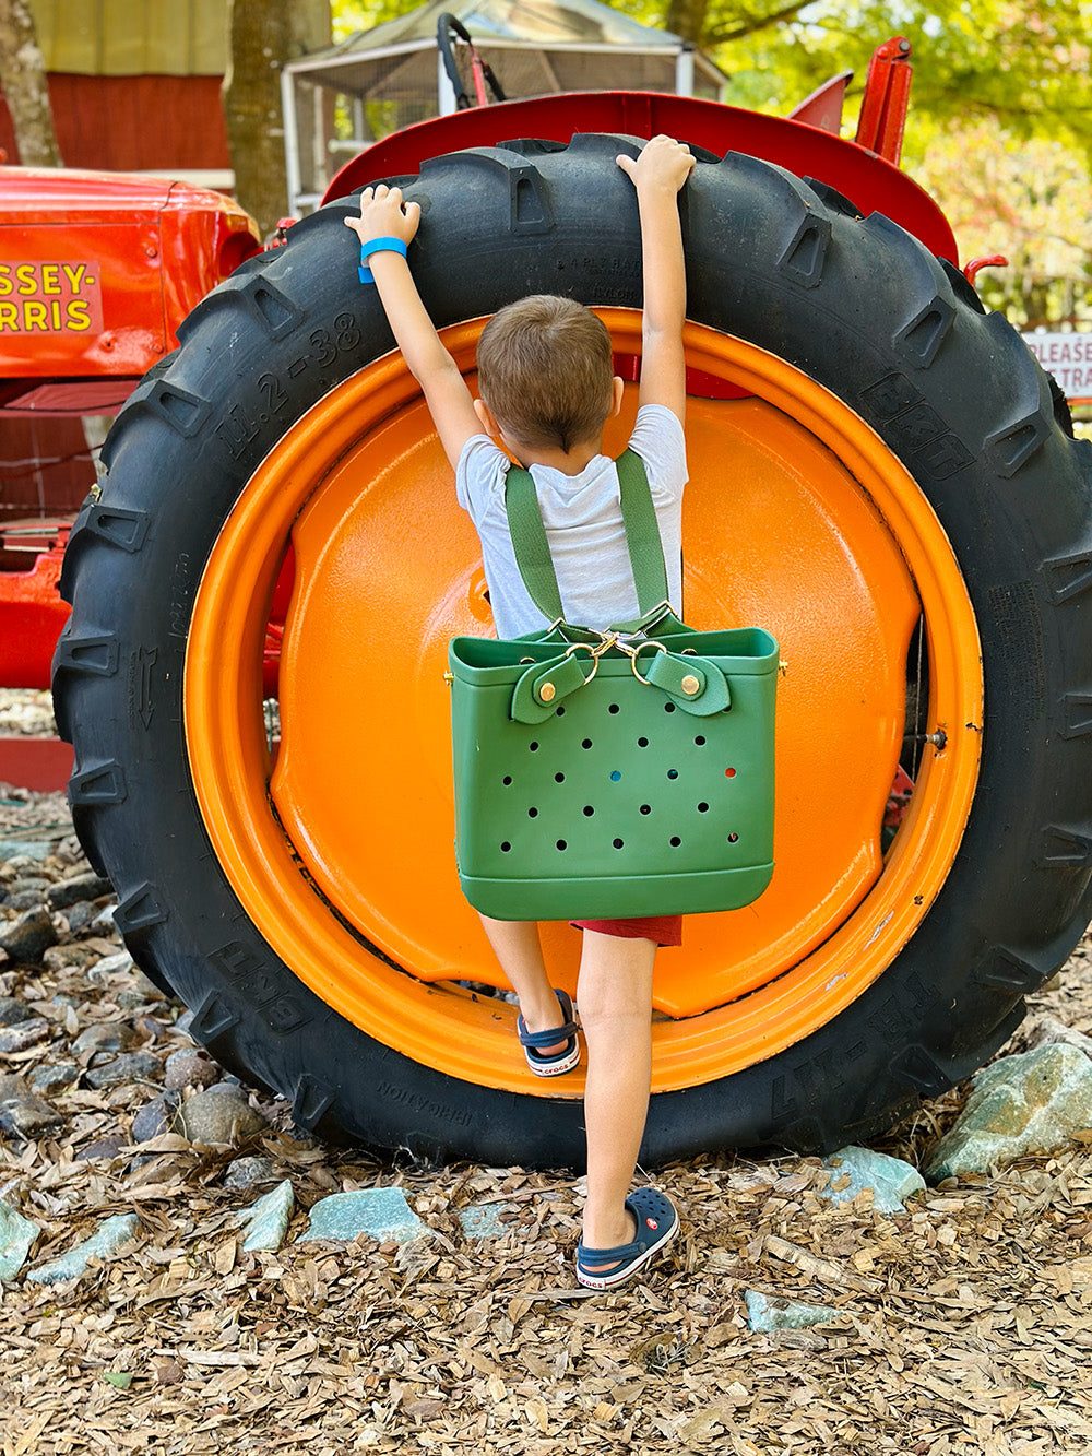
[[[843,135],[855,131],[872,52],[904,35],[914,77],[903,166],[951,217],[965,258],[1010,259],[981,275],[986,300],[1022,326],[1092,316],[1088,0],[613,3],[709,51],[737,106],[786,115],[852,70]],[[333,0],[335,33],[412,9],[415,0]]]

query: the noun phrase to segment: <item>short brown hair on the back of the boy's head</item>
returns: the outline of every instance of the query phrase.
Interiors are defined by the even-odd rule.
[[[571,450],[603,430],[613,399],[610,335],[572,298],[507,304],[478,341],[482,399],[520,444]]]

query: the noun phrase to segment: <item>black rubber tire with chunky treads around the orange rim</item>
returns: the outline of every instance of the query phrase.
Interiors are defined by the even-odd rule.
[[[636,205],[614,166],[639,146],[584,135],[428,162],[408,192],[435,322],[534,291],[639,307]],[[927,494],[981,632],[978,791],[948,882],[891,967],[789,1050],[654,1096],[645,1166],[877,1134],[1009,1038],[1092,916],[1092,446],[1066,438],[1047,376],[951,265],[843,202],[753,157],[699,162],[681,198],[689,314],[820,380]],[[221,523],[285,428],[392,347],[357,282],[351,205],[304,218],[201,303],[106,441],[102,499],[64,563],[74,610],[54,668],[73,815],[118,888],[137,962],[192,1008],[217,1060],[291,1101],[298,1125],[431,1159],[578,1168],[579,1104],[440,1075],[293,976],[229,888],[188,776],[183,651]]]

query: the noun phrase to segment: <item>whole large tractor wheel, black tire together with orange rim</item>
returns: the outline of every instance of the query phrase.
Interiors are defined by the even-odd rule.
[[[614,165],[638,147],[513,141],[399,179],[467,373],[483,317],[529,293],[639,352]],[[582,1073],[526,1070],[457,891],[443,670],[488,600],[352,207],[218,287],[106,441],[54,671],[73,815],[134,960],[300,1127],[579,1166]],[[681,214],[689,363],[718,381],[687,416],[686,613],[769,628],[786,670],[775,879],[660,955],[646,1166],[877,1134],[1003,1045],[1092,916],[1092,447],[1005,319],[885,217],[731,153]],[[287,559],[278,740],[261,668]],[[572,989],[575,932],[547,951]]]

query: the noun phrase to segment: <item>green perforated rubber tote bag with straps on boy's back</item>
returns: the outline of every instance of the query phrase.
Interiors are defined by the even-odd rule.
[[[552,626],[448,648],[459,881],[498,920],[735,910],[773,874],[778,644],[676,616],[644,463],[617,467],[642,616],[563,620],[534,482],[513,467],[515,561]]]

